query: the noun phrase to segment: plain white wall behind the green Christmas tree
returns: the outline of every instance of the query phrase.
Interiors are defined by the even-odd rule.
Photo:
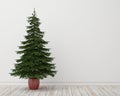
[[[36,8],[58,73],[43,82],[120,82],[120,0],[0,0],[0,82]]]

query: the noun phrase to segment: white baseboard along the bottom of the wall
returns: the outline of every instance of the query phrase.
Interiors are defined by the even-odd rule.
[[[27,85],[27,82],[0,82],[0,85]],[[41,82],[41,85],[120,85],[120,82]]]

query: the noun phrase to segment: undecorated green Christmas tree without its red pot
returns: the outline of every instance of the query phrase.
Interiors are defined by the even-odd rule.
[[[41,24],[34,10],[32,16],[28,17],[27,35],[19,46],[18,54],[20,59],[16,60],[15,69],[12,69],[13,76],[20,78],[43,79],[48,75],[54,76],[56,73],[55,64],[52,63],[53,57],[49,48],[45,45],[48,41],[43,39],[44,32],[39,28]]]

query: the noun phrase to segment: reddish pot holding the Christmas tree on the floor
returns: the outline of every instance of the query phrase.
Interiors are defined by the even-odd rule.
[[[30,78],[28,79],[28,86],[29,86],[29,89],[31,90],[37,90],[39,88],[39,79],[36,79],[36,78]]]

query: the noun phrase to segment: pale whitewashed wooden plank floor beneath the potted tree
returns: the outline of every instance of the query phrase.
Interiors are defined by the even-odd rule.
[[[0,85],[0,96],[120,96],[120,85],[44,85],[38,90],[29,90],[23,85]]]

